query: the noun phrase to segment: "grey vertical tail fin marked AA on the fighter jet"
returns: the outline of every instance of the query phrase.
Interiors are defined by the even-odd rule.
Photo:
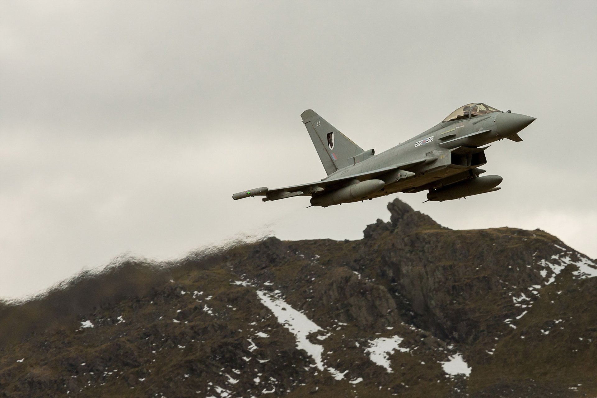
[[[300,116],[328,175],[352,165],[351,158],[364,152],[361,147],[313,110],[307,109]]]

